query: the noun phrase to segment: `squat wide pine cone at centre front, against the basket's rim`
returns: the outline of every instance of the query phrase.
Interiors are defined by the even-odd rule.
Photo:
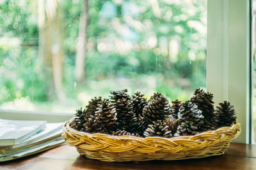
[[[164,124],[162,120],[157,120],[148,125],[148,128],[144,132],[146,138],[152,136],[163,136],[164,138],[171,138],[172,131],[168,131],[168,125]]]

